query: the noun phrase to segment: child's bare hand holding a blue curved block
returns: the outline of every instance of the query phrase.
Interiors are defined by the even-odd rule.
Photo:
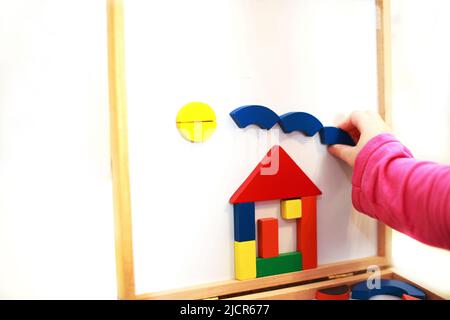
[[[351,167],[355,164],[359,151],[373,137],[381,133],[391,133],[391,128],[381,119],[380,115],[373,111],[353,111],[341,125],[338,126],[356,142],[355,147],[335,144],[328,151],[347,162]]]

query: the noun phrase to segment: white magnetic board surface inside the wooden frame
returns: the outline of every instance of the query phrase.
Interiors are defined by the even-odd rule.
[[[352,209],[351,171],[318,135],[239,129],[229,112],[261,104],[336,125],[377,110],[373,0],[133,0],[126,3],[136,292],[234,278],[230,196],[274,144],[322,190],[319,264],[376,255],[376,222]],[[215,110],[205,143],[175,126],[191,101]],[[277,202],[257,203],[257,217]],[[280,249],[295,230],[280,225]]]

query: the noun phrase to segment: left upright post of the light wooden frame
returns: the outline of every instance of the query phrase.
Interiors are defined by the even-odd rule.
[[[108,68],[116,234],[116,272],[120,299],[135,297],[131,225],[130,177],[128,170],[128,128],[125,86],[123,1],[107,1]]]

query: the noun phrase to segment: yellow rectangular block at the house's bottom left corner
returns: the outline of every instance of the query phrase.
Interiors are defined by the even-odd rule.
[[[256,240],[234,242],[234,271],[237,280],[256,278]]]

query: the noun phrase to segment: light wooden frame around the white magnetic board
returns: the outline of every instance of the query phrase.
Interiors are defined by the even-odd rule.
[[[377,73],[378,108],[383,118],[391,119],[391,58],[390,58],[390,0],[373,0],[377,8]],[[257,278],[248,281],[230,280],[185,289],[154,294],[136,295],[134,280],[130,181],[128,166],[128,129],[124,58],[123,0],[107,0],[108,58],[110,92],[111,166],[114,196],[114,221],[117,288],[119,299],[205,299],[242,295],[254,290],[273,289],[295,285],[304,281],[351,277],[368,266],[390,265],[391,231],[379,223],[377,230],[377,256],[353,261],[332,263],[317,269]],[[392,275],[393,273],[390,273]],[[387,275],[387,273],[385,273]],[[330,280],[332,281],[332,280]],[[333,283],[337,283],[336,281]],[[311,285],[307,288],[312,288]],[[288,290],[288,289],[280,289]],[[294,289],[290,289],[291,292]],[[273,291],[272,291],[273,292]],[[305,291],[306,292],[306,291]],[[286,297],[310,297],[291,293]],[[284,294],[284,293],[283,293]],[[284,297],[280,295],[280,297]],[[255,297],[256,298],[256,297]]]

